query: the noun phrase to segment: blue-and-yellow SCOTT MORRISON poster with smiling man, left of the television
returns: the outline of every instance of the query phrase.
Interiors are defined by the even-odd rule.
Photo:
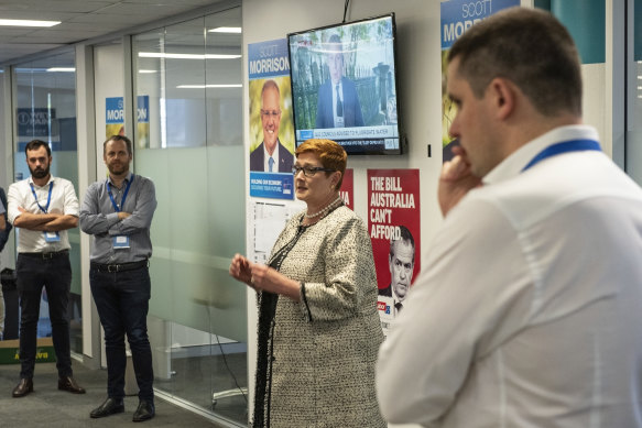
[[[294,199],[294,123],[287,41],[248,45],[250,196]]]

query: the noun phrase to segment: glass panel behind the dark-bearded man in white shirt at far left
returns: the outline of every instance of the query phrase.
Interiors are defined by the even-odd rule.
[[[76,68],[74,50],[21,63],[13,70],[14,180],[29,177],[24,146],[42,140],[52,150],[51,174],[74,184],[78,193],[76,151]],[[78,197],[80,197],[78,195]],[[72,351],[83,352],[80,299],[80,231],[69,229],[72,294],[69,298]],[[46,296],[41,301],[39,337],[51,336]]]

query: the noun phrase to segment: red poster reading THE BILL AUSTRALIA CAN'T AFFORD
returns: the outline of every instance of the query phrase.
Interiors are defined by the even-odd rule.
[[[418,169],[368,169],[368,232],[388,334],[421,270]]]

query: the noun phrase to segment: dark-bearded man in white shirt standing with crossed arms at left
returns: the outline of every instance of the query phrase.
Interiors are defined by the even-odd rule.
[[[50,173],[52,151],[41,140],[24,149],[31,176],[9,186],[9,221],[18,229],[17,287],[20,296],[20,382],[12,396],[33,392],[37,320],[46,290],[58,389],[85,394],[73,376],[69,344],[72,264],[67,230],[78,227],[78,197],[72,182]]]

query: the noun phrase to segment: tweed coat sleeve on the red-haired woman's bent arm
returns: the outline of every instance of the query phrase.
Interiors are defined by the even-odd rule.
[[[363,307],[364,296],[377,293],[372,246],[362,221],[353,218],[337,229],[322,253],[326,281],[302,286],[301,304],[308,321],[353,317]]]

